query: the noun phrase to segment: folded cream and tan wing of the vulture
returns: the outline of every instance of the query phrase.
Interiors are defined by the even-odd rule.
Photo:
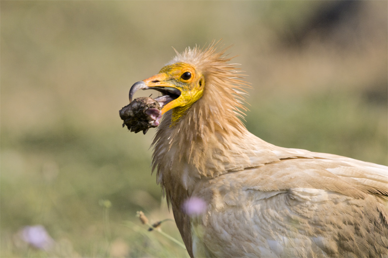
[[[216,257],[387,256],[385,171],[360,162],[285,159],[204,180],[192,233]]]

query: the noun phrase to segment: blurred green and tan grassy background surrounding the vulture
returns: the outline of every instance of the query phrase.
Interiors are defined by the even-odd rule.
[[[388,164],[387,1],[0,1],[1,257],[187,257],[135,217],[172,218],[130,86],[223,39],[275,145]],[[22,240],[42,225],[55,244]],[[180,240],[174,222],[162,230]]]

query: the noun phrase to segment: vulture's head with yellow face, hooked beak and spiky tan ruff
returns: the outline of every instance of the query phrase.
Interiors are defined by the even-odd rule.
[[[169,126],[186,117],[188,123],[181,124],[194,126],[190,132],[194,135],[203,134],[204,127],[213,132],[217,128],[226,129],[230,123],[241,127],[235,117],[245,110],[242,88],[247,84],[237,75],[236,64],[227,63],[231,58],[225,57],[225,51],[217,51],[217,44],[212,43],[207,48],[177,52],[158,74],[133,84],[129,101],[140,89],[159,91],[162,96],[155,100],[162,106],[162,115],[171,111]]]

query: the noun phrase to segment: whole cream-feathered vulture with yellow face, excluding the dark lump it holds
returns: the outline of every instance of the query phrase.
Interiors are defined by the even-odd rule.
[[[163,94],[153,169],[190,256],[388,257],[388,167],[251,134],[247,85],[216,48],[177,53],[135,89]],[[203,212],[184,209],[193,197]]]

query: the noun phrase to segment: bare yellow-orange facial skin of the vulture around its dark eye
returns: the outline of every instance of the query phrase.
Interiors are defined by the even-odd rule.
[[[193,65],[177,63],[164,66],[159,74],[143,80],[149,88],[173,87],[181,94],[177,99],[164,105],[162,114],[173,110],[173,124],[186,112],[186,110],[200,97],[202,97],[205,80]]]

